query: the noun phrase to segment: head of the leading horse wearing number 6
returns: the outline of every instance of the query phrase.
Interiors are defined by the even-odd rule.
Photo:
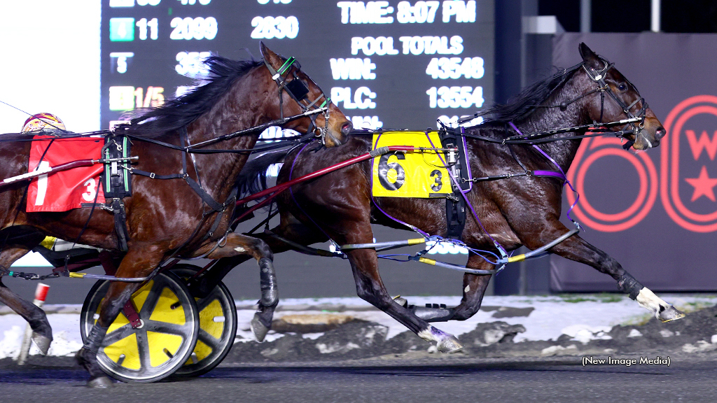
[[[623,138],[627,139],[627,147],[632,145],[635,150],[660,145],[660,138],[665,136],[665,128],[655,113],[647,106],[645,99],[612,63],[593,52],[587,44],[579,46],[583,58],[582,70],[597,85],[599,96],[589,101],[589,118],[599,123],[619,120],[634,120],[614,130],[624,130]]]

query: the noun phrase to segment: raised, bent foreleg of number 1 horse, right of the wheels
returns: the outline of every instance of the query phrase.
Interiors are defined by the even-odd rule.
[[[252,318],[252,332],[257,341],[264,341],[271,328],[274,310],[279,304],[279,291],[277,290],[276,271],[274,270],[274,255],[266,242],[247,235],[234,232],[227,235],[227,242],[207,255],[209,259],[221,259],[237,255],[250,255],[259,264],[259,278],[262,296],[259,307]],[[232,266],[233,267],[233,266]]]

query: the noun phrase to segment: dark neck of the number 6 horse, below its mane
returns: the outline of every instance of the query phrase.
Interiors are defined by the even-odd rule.
[[[543,105],[559,105],[562,101],[575,99],[590,90],[586,89],[587,84],[584,80],[570,80],[553,93]],[[566,110],[560,110],[560,108],[537,108],[527,118],[513,123],[524,134],[586,125],[592,123],[592,120],[589,119],[586,105],[585,100],[578,100],[569,105]],[[551,138],[566,138],[574,136],[574,134],[576,133],[561,133],[551,136]],[[537,146],[553,158],[564,172],[567,172],[580,147],[580,143],[581,140],[576,139],[571,141],[550,141],[539,143]]]

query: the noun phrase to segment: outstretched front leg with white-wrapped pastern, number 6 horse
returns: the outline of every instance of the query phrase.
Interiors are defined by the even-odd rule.
[[[526,246],[533,250],[537,249],[568,231],[562,224],[555,227],[557,230],[554,233],[541,237],[544,239],[526,240]],[[617,281],[617,288],[620,291],[630,295],[632,300],[636,300],[640,306],[650,310],[655,315],[655,318],[660,319],[660,321],[669,322],[685,317],[684,313],[675,309],[673,305],[665,302],[662,298],[657,297],[649,288],[635,280],[629,272],[622,268],[617,260],[614,260],[597,247],[590,245],[578,235],[569,237],[549,251],[567,259],[590,265],[599,272],[610,275]]]

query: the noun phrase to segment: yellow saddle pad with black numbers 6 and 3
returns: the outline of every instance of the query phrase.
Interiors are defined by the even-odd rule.
[[[429,141],[430,138],[430,141]],[[438,133],[432,131],[389,131],[374,134],[374,149],[383,146],[442,148]],[[374,186],[379,197],[445,197],[452,193],[450,176],[440,151],[391,152],[374,158]]]

